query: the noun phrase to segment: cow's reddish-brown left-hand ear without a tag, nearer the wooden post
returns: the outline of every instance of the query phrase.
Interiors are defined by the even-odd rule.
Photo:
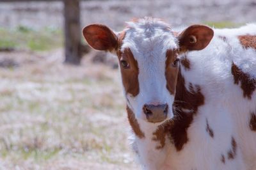
[[[96,50],[112,51],[117,47],[117,36],[104,25],[92,24],[84,27],[83,36],[88,44]]]

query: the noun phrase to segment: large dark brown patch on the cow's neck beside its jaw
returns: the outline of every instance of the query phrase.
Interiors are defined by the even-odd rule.
[[[187,130],[193,121],[193,117],[198,111],[198,107],[204,104],[204,95],[200,86],[189,84],[189,89],[185,86],[185,79],[179,72],[176,86],[176,95],[173,102],[174,125],[171,128],[171,135],[177,151],[182,150],[188,142]],[[189,112],[184,111],[189,110]]]

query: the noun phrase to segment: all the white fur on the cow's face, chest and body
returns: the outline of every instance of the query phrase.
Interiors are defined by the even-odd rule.
[[[256,51],[244,49],[237,39],[239,35],[256,35],[256,25],[214,29],[214,37],[204,50],[188,52],[191,69],[181,66],[181,72],[187,86],[191,82],[202,88],[205,104],[199,107],[188,128],[189,142],[181,151],[168,139],[164,148],[157,150],[152,133],[159,124],[147,123],[142,112],[143,105],[150,102],[168,103],[169,107],[173,103],[174,97],[166,89],[164,68],[166,50],[177,49],[178,45],[173,34],[164,27],[166,24],[159,20],[131,22],[122,46],[122,49],[131,49],[140,70],[140,93],[126,98],[145,133],[143,139],[134,137],[143,169],[256,169],[256,132],[250,130],[248,123],[250,112],[256,111],[256,93],[253,92],[251,100],[244,98],[231,73],[234,62],[243,72],[256,78]],[[227,42],[220,36],[225,36]],[[172,109],[169,110],[168,116],[172,118]],[[206,119],[214,131],[213,139],[205,132]],[[236,139],[237,153],[234,160],[228,160],[232,137]],[[221,154],[225,155],[225,164],[220,160]]]

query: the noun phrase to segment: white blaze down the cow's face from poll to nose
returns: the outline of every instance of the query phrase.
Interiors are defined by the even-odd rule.
[[[134,59],[138,61],[140,86],[138,96],[128,96],[131,107],[137,113],[144,104],[151,102],[171,106],[173,96],[166,88],[165,62],[166,51],[178,48],[177,38],[170,26],[161,20],[145,18],[127,24],[121,50],[131,49]]]

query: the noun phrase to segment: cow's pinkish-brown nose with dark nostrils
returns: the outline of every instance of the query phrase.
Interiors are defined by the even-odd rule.
[[[143,106],[143,112],[147,116],[147,120],[153,123],[164,121],[168,114],[168,104],[145,104]]]

